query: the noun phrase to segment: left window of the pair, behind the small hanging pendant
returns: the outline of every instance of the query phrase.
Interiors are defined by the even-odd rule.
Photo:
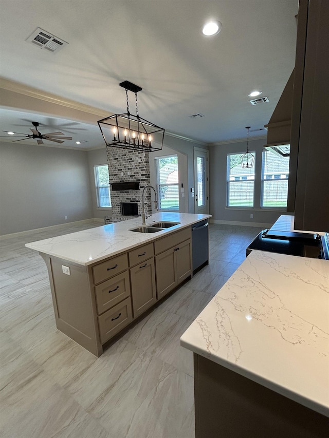
[[[241,154],[227,155],[227,206],[253,207],[255,165],[242,168]],[[255,155],[254,152],[252,152]]]

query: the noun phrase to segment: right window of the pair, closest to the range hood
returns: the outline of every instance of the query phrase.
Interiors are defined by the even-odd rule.
[[[262,207],[286,207],[288,197],[289,157],[263,150]]]

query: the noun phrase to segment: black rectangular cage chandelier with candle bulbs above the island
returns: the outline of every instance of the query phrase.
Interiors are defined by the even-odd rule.
[[[127,112],[114,114],[97,122],[106,146],[146,152],[161,150],[165,129],[139,117],[137,93],[142,88],[129,81],[121,82],[119,85],[125,88]],[[129,110],[128,90],[135,93],[136,116]]]

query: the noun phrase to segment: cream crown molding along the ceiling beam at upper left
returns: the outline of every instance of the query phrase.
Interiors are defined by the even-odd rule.
[[[104,111],[94,106],[85,105],[83,103],[76,102],[70,99],[65,99],[61,96],[57,96],[57,94],[48,93],[39,90],[38,88],[33,88],[28,85],[24,85],[19,82],[10,81],[9,79],[5,79],[5,78],[0,78],[0,88],[7,91],[23,94],[24,96],[28,96],[31,98],[40,99],[46,102],[65,106],[67,108],[83,111],[102,118],[111,116],[113,114],[110,111]]]

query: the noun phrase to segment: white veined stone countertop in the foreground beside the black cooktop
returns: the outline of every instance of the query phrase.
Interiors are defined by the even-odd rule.
[[[329,261],[252,251],[180,344],[329,416],[328,333]]]

